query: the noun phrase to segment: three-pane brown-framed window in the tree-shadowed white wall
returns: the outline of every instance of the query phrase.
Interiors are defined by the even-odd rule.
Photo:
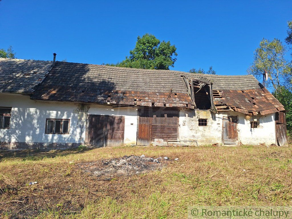
[[[69,134],[70,119],[46,119],[46,134]]]

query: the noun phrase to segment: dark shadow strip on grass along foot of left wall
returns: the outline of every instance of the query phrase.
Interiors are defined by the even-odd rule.
[[[42,149],[27,149],[27,150],[0,150],[0,162],[2,159],[20,158],[25,160],[41,160],[44,158],[54,158],[60,156],[67,156],[69,154],[84,153],[98,147],[84,147],[84,148],[70,148],[70,149],[55,149],[55,150],[42,150]]]

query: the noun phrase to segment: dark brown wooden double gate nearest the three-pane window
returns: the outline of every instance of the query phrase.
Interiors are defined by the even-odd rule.
[[[124,116],[88,115],[86,145],[114,146],[124,143]]]

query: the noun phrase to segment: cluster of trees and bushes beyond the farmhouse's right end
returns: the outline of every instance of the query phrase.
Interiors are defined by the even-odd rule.
[[[285,42],[292,45],[292,21],[288,22],[288,36]],[[263,73],[266,69],[269,80],[265,82],[267,87],[272,87],[273,94],[286,109],[287,132],[292,135],[292,61],[285,57],[287,48],[279,39],[263,39],[254,52],[254,60],[248,69],[260,81],[263,80]]]

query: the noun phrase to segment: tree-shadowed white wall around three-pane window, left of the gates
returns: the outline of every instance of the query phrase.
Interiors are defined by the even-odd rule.
[[[29,144],[84,142],[85,129],[80,128],[83,123],[80,118],[78,121],[80,104],[38,102],[30,100],[29,96],[1,93],[0,106],[12,107],[10,128],[0,129],[1,141]],[[46,118],[70,119],[69,134],[45,134]]]

